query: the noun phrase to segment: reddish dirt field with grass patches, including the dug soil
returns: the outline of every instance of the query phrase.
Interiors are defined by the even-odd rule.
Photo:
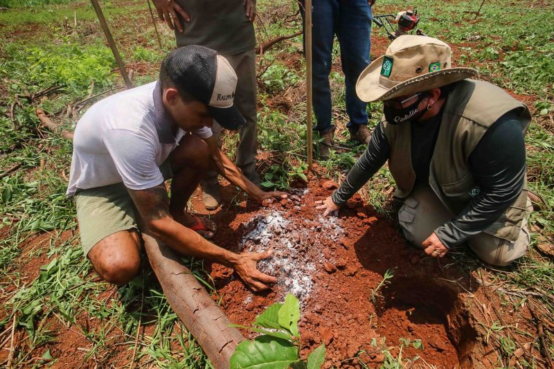
[[[290,34],[298,27],[299,16],[289,5],[258,3],[261,3],[260,19],[256,23],[258,42]],[[429,3],[422,0],[418,5],[430,8]],[[156,78],[163,56],[154,42],[150,15],[142,2],[119,0],[114,4],[107,4],[106,9],[113,12],[109,21],[127,60],[127,70],[134,71],[136,84],[149,82]],[[454,5],[443,5],[444,17],[440,12],[443,9],[435,5],[434,13],[427,17],[430,22],[424,24],[429,29],[425,30],[444,36],[452,45],[453,60],[479,68],[480,78],[501,84],[512,96],[526,102],[533,112],[527,141],[528,181],[546,198],[546,205],[534,215],[533,242],[525,260],[512,267],[495,269],[463,249],[452,251],[442,259],[428,258],[408,244],[398,231],[393,212],[397,204],[392,199],[393,186],[386,170],[379,172],[370,186],[349,201],[340,217],[324,219],[315,210],[314,201],[330,195],[355,155],[337,156],[334,161],[316,164],[313,172],[305,170],[298,161],[298,158],[305,160],[301,151],[303,140],[298,140],[301,131],[298,127],[303,127],[305,120],[305,84],[301,38],[296,37],[279,44],[267,55],[258,56],[258,169],[262,174],[273,174],[277,188],[291,186],[289,200],[260,208],[245,201],[244,195],[223,182],[223,205],[219,210],[206,212],[199,191],[192,201],[195,212],[216,219],[216,244],[236,252],[274,249],[271,258],[259,264],[262,271],[278,277],[278,283],[265,294],[253,294],[246,289],[231,269],[187,259],[197,276],[211,287],[208,291],[233,323],[249,325],[271,303],[292,293],[301,302],[301,354],[305,357],[307,352],[325,343],[324,368],[548,368],[547,352],[554,354],[550,283],[554,282],[553,264],[552,257],[537,251],[537,247],[551,245],[553,235],[552,88],[547,84],[542,89],[531,87],[531,82],[518,77],[515,69],[510,69],[512,74],[508,74],[498,68],[501,62],[512,63],[510,53],[535,52],[534,45],[519,45],[518,37],[542,33],[535,32],[533,25],[529,26],[530,30],[508,27],[510,19],[500,17],[499,8],[503,5],[499,1],[485,7],[487,17],[481,20],[456,12],[454,23],[450,23],[445,18],[454,13],[446,8]],[[518,11],[522,17],[528,17],[528,14],[542,14],[542,8],[552,7],[548,1],[528,2]],[[378,12],[395,10],[398,10],[396,4],[383,1]],[[0,48],[0,55],[6,60],[17,59],[10,44],[40,49],[42,42],[84,47],[100,40],[98,48],[105,48],[95,16],[84,3],[36,11],[49,12],[54,19],[49,23],[30,19],[15,25],[0,21],[4,30],[2,40],[6,44]],[[25,17],[32,17],[34,12]],[[73,15],[75,24],[71,21]],[[502,28],[508,30],[506,33],[499,33],[498,28],[491,26],[499,22],[506,23]],[[550,32],[548,24],[544,26],[546,33]],[[160,22],[158,25],[163,51],[170,50],[173,35]],[[471,32],[466,28],[471,28]],[[465,32],[467,37],[456,35],[454,30]],[[53,35],[52,42],[44,41],[44,35],[49,33]],[[550,42],[554,42],[552,35]],[[515,41],[511,44],[506,41],[506,45],[504,39]],[[373,29],[371,42],[373,57],[382,55],[389,44],[378,28]],[[53,56],[44,53],[40,54],[42,62]],[[3,64],[0,67],[4,68]],[[71,120],[69,109],[65,112],[62,107],[93,92],[105,91],[113,84],[121,84],[120,78],[114,78],[113,83],[97,81],[89,93],[90,78],[85,75],[84,87],[75,87],[79,97],[75,92],[66,92],[40,102],[31,101],[24,109],[15,102],[18,93],[23,96],[25,89],[38,91],[50,87],[51,81],[35,78],[26,82],[25,87],[16,88],[15,82],[23,78],[18,77],[19,71],[31,67],[23,63],[15,69],[17,73],[1,68],[0,132],[9,143],[1,147],[1,154],[5,156],[2,160],[7,160],[1,161],[1,171],[13,163],[21,162],[23,166],[0,182],[3,199],[0,204],[5,206],[0,208],[0,218],[3,218],[0,219],[3,221],[0,228],[0,366],[210,368],[206,355],[161,295],[161,287],[148,261],[144,260],[141,275],[123,287],[100,281],[80,252],[71,201],[58,200],[63,197],[71,146],[60,143],[59,138],[53,138],[46,130],[37,129],[35,105],[49,107],[51,117],[71,127],[76,119]],[[88,71],[93,67],[83,69]],[[73,75],[84,73],[80,69],[71,70]],[[343,106],[339,55],[333,60],[332,73],[337,136],[343,143],[352,145],[345,133],[348,118]],[[26,100],[21,96],[23,103],[20,104],[24,105]],[[87,106],[76,114],[77,118]],[[10,108],[15,109],[11,116]],[[375,125],[380,106],[373,105],[371,109],[371,124]],[[55,114],[58,110],[62,112]],[[18,112],[23,118],[17,117]],[[24,132],[25,119],[31,122],[32,134],[24,137],[29,143],[21,145],[17,140],[12,143],[10,134],[18,137]],[[18,124],[19,129],[14,129]],[[283,130],[279,130],[281,127]],[[225,136],[223,147],[231,156],[235,143],[236,136]],[[288,151],[281,150],[283,146]],[[37,147],[42,150],[38,154],[33,151]],[[354,150],[358,149],[352,146]],[[293,156],[294,160],[290,161]],[[298,179],[298,173],[307,175],[307,184]],[[279,181],[278,175],[282,176]],[[33,187],[28,183],[37,184]],[[12,202],[4,201],[4,188],[19,193],[19,197]],[[51,188],[56,188],[54,193],[49,192]],[[35,211],[29,202],[37,197],[35,194],[46,204],[44,208],[54,204],[53,209]],[[66,213],[60,216],[62,221],[56,218],[57,223],[53,222],[51,214],[57,216],[56,212],[62,211],[60,208]],[[42,226],[33,228],[28,225],[30,221],[42,222]],[[253,337],[246,330],[241,332]]]

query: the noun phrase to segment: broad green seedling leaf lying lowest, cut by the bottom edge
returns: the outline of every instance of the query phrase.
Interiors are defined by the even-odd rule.
[[[231,357],[231,369],[288,369],[298,360],[291,342],[263,335],[238,344]]]

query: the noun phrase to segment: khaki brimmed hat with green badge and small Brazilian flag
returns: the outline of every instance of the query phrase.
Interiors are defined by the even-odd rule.
[[[388,100],[474,77],[472,68],[453,68],[450,46],[433,37],[403,35],[361,72],[356,93],[362,101]]]

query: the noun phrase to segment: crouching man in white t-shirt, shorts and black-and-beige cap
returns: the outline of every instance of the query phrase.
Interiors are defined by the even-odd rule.
[[[236,83],[224,57],[185,46],[163,60],[159,81],[105,98],[79,120],[67,195],[75,197],[84,255],[101,278],[122,285],[139,271],[140,215],[172,249],[232,267],[254,291],[275,281],[256,269],[269,252],[222,249],[204,239],[213,236],[215,223],[184,211],[202,174],[214,166],[260,203],[286,197],[262,192],[213,139],[214,119],[227,129],[244,124],[233,105]],[[172,179],[171,199],[166,179]]]

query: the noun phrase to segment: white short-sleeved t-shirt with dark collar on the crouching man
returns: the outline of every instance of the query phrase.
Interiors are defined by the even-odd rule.
[[[179,128],[174,136],[170,122],[158,82],[96,102],[75,128],[67,195],[121,182],[132,190],[162,183],[159,165],[185,134]],[[208,138],[212,131],[204,127],[193,134]]]

